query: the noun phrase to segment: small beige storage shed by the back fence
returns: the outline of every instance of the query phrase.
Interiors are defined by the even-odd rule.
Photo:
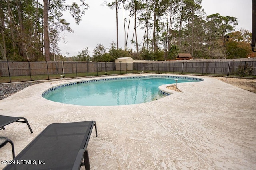
[[[120,57],[115,61],[116,70],[118,71],[132,71],[133,70],[133,58],[132,57]]]

